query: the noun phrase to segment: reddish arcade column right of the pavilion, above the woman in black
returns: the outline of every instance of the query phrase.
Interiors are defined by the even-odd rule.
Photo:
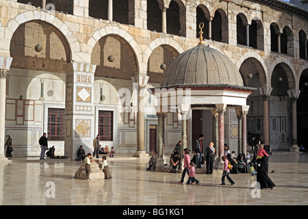
[[[270,113],[268,110],[268,101],[270,99],[271,87],[259,88],[259,92],[263,97],[263,118],[262,118],[262,132],[263,142],[265,145],[270,144]]]

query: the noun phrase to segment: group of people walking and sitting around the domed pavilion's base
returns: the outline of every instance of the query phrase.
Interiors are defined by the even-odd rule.
[[[201,168],[203,163],[203,144],[202,140],[204,136],[201,134],[196,140],[195,144],[195,155],[190,159],[190,150],[183,150],[183,170],[181,175],[181,180],[179,183],[184,182],[185,175],[188,175],[188,181],[186,184],[197,185],[199,183],[196,179],[196,168]],[[178,172],[181,166],[181,144],[179,141],[175,146],[175,149],[172,151],[170,156],[170,172]],[[238,156],[235,156],[235,151],[230,153],[229,146],[224,144],[224,155],[220,157],[223,163],[222,171],[222,183],[220,185],[225,185],[225,178],[227,177],[231,185],[235,182],[231,179],[230,173],[238,172],[248,172],[249,168],[253,168],[252,175],[257,175],[257,182],[259,182],[260,188],[274,188],[275,184],[272,182],[270,177],[268,177],[268,153],[264,149],[264,144],[259,142],[257,145],[258,149],[254,153],[253,160],[250,161],[250,155],[247,153],[247,157],[244,153],[239,153]],[[270,149],[267,149],[270,150]],[[207,174],[213,173],[214,168],[214,159],[215,159],[215,148],[214,143],[209,143],[209,146],[205,147],[204,157],[206,162],[206,172]],[[157,151],[154,151],[153,156],[149,160],[149,168],[146,170],[155,170],[155,165],[157,161]],[[257,172],[257,173],[255,173]]]

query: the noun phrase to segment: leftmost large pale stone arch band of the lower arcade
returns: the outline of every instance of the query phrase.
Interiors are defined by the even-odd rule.
[[[5,32],[8,33],[10,38],[5,38],[5,40],[12,40],[12,36],[16,29],[23,23],[27,23],[29,21],[42,21],[45,23],[49,23],[55,31],[61,36],[63,42],[65,43],[64,47],[66,47],[67,51],[69,50],[69,58],[67,62],[71,62],[71,60],[75,60],[77,62],[82,62],[81,55],[78,53],[81,52],[81,48],[79,46],[79,42],[77,38],[74,36],[73,32],[70,31],[70,28],[60,21],[59,18],[56,18],[52,13],[43,12],[43,11],[27,11],[21,14],[18,14],[14,18],[12,18],[5,27]],[[2,43],[2,42],[1,42]],[[8,43],[8,51],[10,51],[10,42]]]

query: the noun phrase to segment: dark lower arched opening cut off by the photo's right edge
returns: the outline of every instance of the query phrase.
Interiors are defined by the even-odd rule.
[[[296,103],[298,146],[308,146],[308,68],[303,70],[299,81],[300,95]]]

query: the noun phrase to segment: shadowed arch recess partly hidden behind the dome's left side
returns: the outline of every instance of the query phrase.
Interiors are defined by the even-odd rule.
[[[149,57],[148,70],[146,75],[148,75],[149,83],[158,83],[157,86],[162,82],[162,77],[164,75],[164,66],[168,66],[179,53],[175,48],[170,47],[167,44],[161,45],[153,50]]]

